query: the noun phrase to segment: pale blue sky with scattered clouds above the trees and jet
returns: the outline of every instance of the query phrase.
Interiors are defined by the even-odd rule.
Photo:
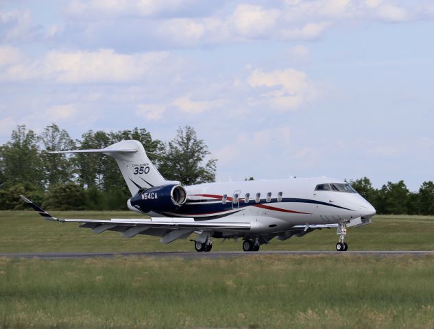
[[[217,180],[434,180],[434,1],[0,0],[16,125],[191,125]]]

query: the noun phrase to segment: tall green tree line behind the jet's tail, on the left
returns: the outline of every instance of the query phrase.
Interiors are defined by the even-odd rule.
[[[0,146],[0,210],[20,210],[19,195],[49,209],[125,210],[131,197],[113,158],[102,154],[49,154],[67,149],[101,149],[127,139],[140,141],[167,180],[182,184],[213,182],[217,160],[209,158],[193,127],[179,127],[164,143],[145,128],[104,132],[89,130],[73,140],[56,123],[36,134],[19,125]]]

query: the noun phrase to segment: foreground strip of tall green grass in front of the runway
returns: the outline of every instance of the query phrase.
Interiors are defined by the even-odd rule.
[[[0,258],[0,328],[434,328],[433,256]]]

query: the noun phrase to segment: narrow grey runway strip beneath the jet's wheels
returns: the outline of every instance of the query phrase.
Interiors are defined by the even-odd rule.
[[[263,251],[263,252],[43,252],[43,253],[0,253],[0,258],[42,258],[42,259],[79,259],[79,258],[114,258],[114,257],[149,257],[149,258],[233,258],[249,256],[426,256],[434,255],[434,250],[363,250],[363,251]]]

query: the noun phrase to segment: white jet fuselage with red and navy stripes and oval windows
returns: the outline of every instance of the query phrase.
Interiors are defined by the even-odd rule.
[[[318,184],[328,183],[347,184],[320,177],[185,186],[187,202],[180,209],[149,215],[220,223],[249,222],[249,232],[226,232],[228,236],[234,233],[243,236],[282,232],[298,225],[343,223],[375,214],[374,207],[355,191],[315,191]]]

